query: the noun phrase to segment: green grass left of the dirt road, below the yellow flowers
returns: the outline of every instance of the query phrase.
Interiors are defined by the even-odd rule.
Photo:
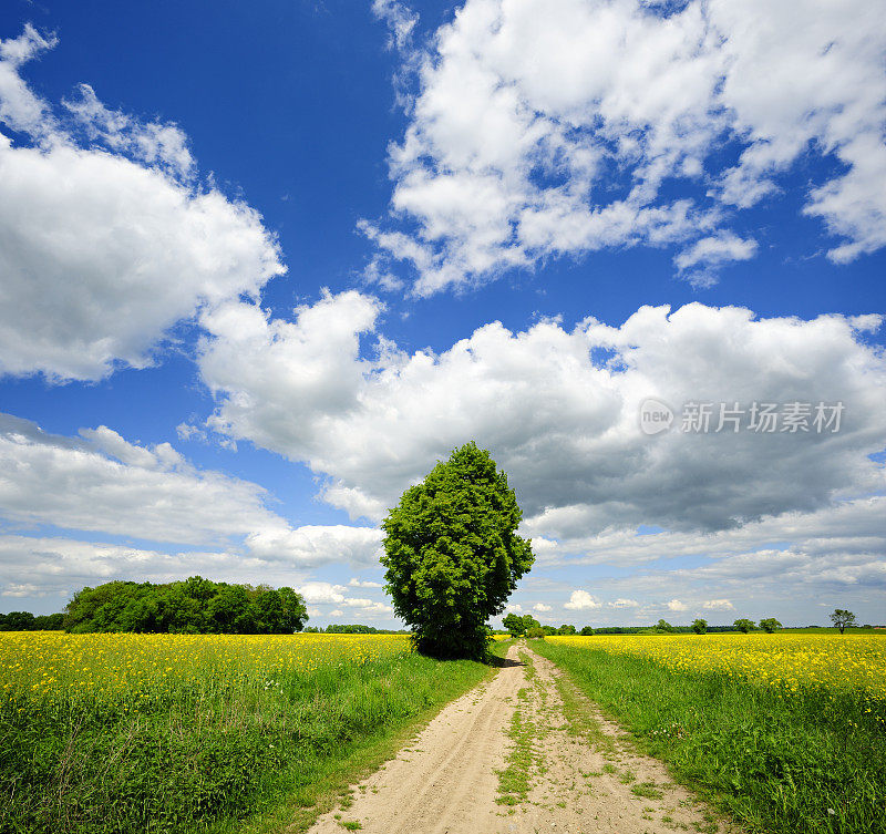
[[[490,673],[409,655],[173,692],[135,715],[7,703],[0,832],[302,831]]]

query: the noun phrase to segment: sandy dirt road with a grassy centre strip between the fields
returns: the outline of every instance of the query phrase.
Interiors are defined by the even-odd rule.
[[[728,831],[638,755],[526,645],[449,704],[310,834],[663,834]]]

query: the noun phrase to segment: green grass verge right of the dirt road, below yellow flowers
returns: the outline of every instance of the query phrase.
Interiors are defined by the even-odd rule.
[[[627,655],[540,640],[533,648],[746,830],[886,832],[886,737],[877,725],[886,704],[867,712],[870,702],[852,693],[810,688],[785,699]]]

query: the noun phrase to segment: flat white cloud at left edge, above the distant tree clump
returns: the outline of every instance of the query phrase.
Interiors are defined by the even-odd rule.
[[[100,426],[81,439],[0,414],[0,514],[156,542],[218,544],[286,523],[257,484],[190,466],[168,444]]]

